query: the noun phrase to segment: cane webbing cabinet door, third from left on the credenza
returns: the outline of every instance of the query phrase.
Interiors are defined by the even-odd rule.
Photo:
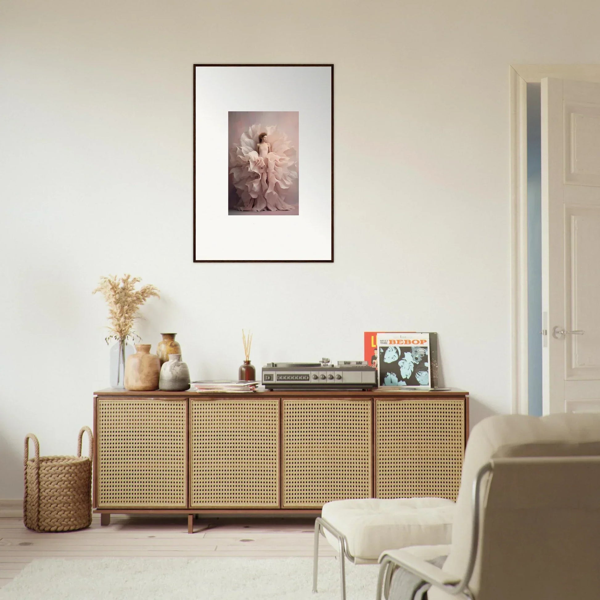
[[[283,508],[368,498],[371,401],[283,398]]]

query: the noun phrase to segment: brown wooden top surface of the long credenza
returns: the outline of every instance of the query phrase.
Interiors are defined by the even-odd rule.
[[[464,398],[469,395],[462,389],[449,388],[447,391],[398,391],[392,392],[384,388],[374,388],[370,391],[359,391],[359,390],[347,390],[347,389],[331,389],[331,390],[278,390],[278,391],[257,391],[257,392],[196,392],[192,389],[188,389],[184,392],[163,392],[160,389],[145,392],[130,392],[127,389],[118,388],[106,388],[94,392],[96,396],[113,396],[113,397],[140,397],[140,398],[229,398],[231,397],[245,397],[248,400],[253,398],[396,398],[397,400],[427,400],[427,398]]]

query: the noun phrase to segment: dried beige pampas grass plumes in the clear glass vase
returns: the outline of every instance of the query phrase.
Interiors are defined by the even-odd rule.
[[[160,298],[160,290],[157,287],[146,285],[136,290],[136,284],[140,281],[142,278],[131,275],[123,275],[121,278],[117,278],[116,275],[101,277],[98,287],[92,292],[100,292],[109,305],[110,335],[106,338],[106,343],[109,343],[109,340],[133,339],[136,335],[133,322],[139,318],[137,311],[140,306],[152,296]]]

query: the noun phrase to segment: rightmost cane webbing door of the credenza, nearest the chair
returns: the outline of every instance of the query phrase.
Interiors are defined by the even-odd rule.
[[[456,500],[465,443],[463,398],[375,400],[378,498]]]

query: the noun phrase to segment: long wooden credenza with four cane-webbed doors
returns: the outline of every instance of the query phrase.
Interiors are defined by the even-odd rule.
[[[319,514],[329,500],[455,499],[467,392],[94,394],[95,512]]]

